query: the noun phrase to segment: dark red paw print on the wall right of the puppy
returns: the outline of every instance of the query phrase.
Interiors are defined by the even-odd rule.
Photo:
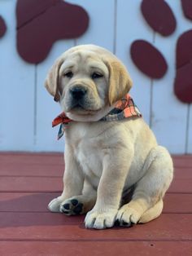
[[[181,0],[183,13],[192,20],[192,0]],[[176,29],[176,19],[164,0],[143,0],[142,15],[151,29],[167,37]],[[130,49],[134,64],[151,78],[161,78],[168,65],[164,56],[151,43],[144,40],[133,42]],[[176,77],[174,91],[183,103],[192,103],[192,30],[181,34],[177,40]]]

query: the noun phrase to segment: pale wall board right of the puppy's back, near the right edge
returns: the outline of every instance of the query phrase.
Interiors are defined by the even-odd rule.
[[[173,92],[176,74],[177,38],[191,23],[181,11],[180,1],[168,1],[177,18],[177,29],[169,37],[155,34],[155,46],[163,53],[168,62],[168,72],[162,79],[153,82],[152,130],[158,142],[166,146],[172,153],[185,153],[187,104],[182,104]]]

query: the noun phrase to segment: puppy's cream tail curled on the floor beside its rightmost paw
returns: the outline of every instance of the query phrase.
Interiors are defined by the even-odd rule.
[[[161,199],[153,207],[151,207],[149,210],[146,210],[146,212],[142,214],[139,223],[148,223],[152,219],[159,217],[159,215],[162,213],[163,208],[164,202]]]

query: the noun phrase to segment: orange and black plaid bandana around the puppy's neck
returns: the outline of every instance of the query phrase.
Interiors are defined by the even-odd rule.
[[[142,114],[138,110],[136,104],[134,104],[131,96],[127,94],[124,98],[118,100],[115,108],[113,108],[110,113],[107,113],[107,115],[99,121],[120,121],[129,117],[142,117]],[[52,121],[52,127],[60,124],[58,139],[63,136],[64,130],[71,121],[73,120],[69,119],[64,112]]]

